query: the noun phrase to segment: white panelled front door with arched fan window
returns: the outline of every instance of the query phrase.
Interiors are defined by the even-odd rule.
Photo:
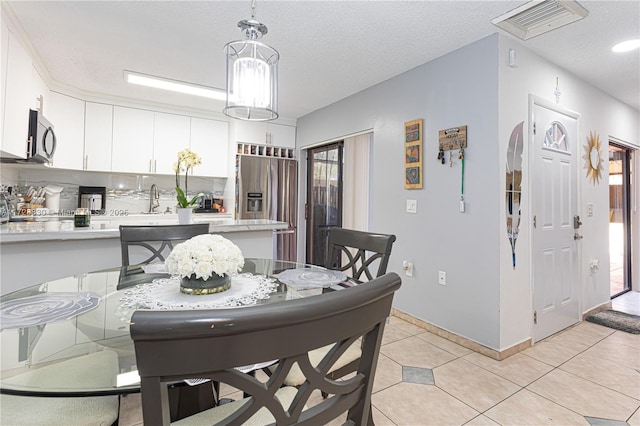
[[[530,97],[534,342],[580,320],[577,163],[579,114]]]

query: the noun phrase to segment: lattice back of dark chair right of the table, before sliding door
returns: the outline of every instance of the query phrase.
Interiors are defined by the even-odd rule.
[[[343,271],[358,281],[371,281],[387,272],[395,240],[395,235],[331,228],[325,267]]]

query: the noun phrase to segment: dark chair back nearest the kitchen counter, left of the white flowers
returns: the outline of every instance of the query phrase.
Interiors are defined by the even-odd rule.
[[[209,232],[208,223],[196,223],[191,225],[149,225],[129,226],[120,225],[120,246],[122,249],[122,266],[131,264],[130,249],[133,246],[142,247],[144,254],[138,251],[136,255],[146,257],[139,263],[151,263],[154,260],[164,262],[175,244],[188,240],[200,234]]]

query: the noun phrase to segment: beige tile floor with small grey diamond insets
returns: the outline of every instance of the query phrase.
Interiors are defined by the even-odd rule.
[[[582,322],[495,361],[391,317],[372,403],[377,425],[640,426],[640,335]]]

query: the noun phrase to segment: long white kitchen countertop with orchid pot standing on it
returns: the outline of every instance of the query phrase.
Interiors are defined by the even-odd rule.
[[[286,222],[264,219],[234,220],[220,218],[216,214],[194,215],[194,223],[210,223],[209,232],[245,232],[286,229]],[[93,216],[91,224],[75,228],[73,220],[37,220],[33,222],[9,222],[0,225],[0,243],[23,243],[56,240],[88,240],[120,238],[120,225],[177,225],[178,215],[129,215]]]

